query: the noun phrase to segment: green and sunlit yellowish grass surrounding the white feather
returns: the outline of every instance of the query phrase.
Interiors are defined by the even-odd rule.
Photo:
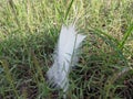
[[[88,35],[69,99],[133,98],[133,0],[1,0],[0,99],[60,99],[45,82],[62,24]]]

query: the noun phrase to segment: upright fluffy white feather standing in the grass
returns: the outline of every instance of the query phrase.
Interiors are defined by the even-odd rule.
[[[47,76],[51,86],[63,89],[69,88],[69,73],[78,62],[78,48],[85,35],[78,34],[74,25],[62,26],[54,55],[54,63],[48,70]]]

